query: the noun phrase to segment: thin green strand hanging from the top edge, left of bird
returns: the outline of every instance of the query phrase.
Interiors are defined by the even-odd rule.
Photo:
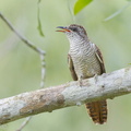
[[[40,10],[39,10],[39,3],[40,3],[40,0],[38,0],[38,4],[37,4],[37,21],[38,21],[37,29],[38,29],[40,36],[44,37],[44,33],[43,33],[43,29],[41,29],[41,22],[40,22]]]

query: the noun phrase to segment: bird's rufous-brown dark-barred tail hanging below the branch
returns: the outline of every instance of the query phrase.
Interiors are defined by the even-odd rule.
[[[100,100],[100,102],[93,102],[87,103],[86,108],[88,111],[88,115],[93,119],[95,123],[103,124],[107,121],[107,102]]]

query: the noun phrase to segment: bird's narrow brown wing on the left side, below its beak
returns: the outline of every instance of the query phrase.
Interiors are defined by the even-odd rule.
[[[76,73],[74,71],[73,61],[72,61],[72,58],[69,53],[68,53],[68,63],[69,63],[69,69],[71,71],[71,75],[72,75],[73,80],[78,81],[78,76],[76,76]]]

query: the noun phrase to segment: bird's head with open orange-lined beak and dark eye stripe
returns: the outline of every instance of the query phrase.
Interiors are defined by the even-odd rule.
[[[58,26],[57,28],[60,28],[57,32],[66,33],[67,37],[71,41],[87,39],[86,31],[81,25],[71,24],[70,26]]]

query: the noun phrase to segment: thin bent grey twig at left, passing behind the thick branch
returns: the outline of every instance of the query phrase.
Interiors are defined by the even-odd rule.
[[[5,24],[10,27],[10,29],[12,32],[15,33],[16,36],[19,36],[19,38],[24,41],[24,44],[26,44],[29,48],[32,48],[34,51],[38,52],[40,56],[40,60],[41,60],[41,82],[40,82],[40,88],[44,87],[44,81],[45,81],[45,51],[41,50],[40,48],[34,46],[34,44],[32,41],[29,41],[26,37],[24,37],[23,35],[21,35],[11,24],[11,22],[3,16],[3,14],[0,12],[0,17],[5,22]],[[27,117],[25,119],[25,121],[21,124],[21,127],[16,130],[16,131],[22,131],[22,129],[29,122],[29,120],[32,119],[32,117]]]

